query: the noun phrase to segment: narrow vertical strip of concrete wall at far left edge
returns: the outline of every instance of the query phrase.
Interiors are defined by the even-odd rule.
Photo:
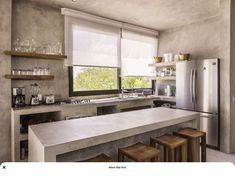
[[[11,58],[3,54],[11,47],[11,0],[0,0],[0,163],[10,161]]]

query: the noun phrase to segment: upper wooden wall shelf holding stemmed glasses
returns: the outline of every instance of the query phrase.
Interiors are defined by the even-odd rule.
[[[63,60],[66,59],[65,55],[56,55],[56,54],[39,54],[39,53],[30,53],[30,52],[19,52],[19,51],[3,51],[5,55],[16,56],[16,57],[25,57],[25,58],[37,58],[37,59],[51,59],[51,60]]]

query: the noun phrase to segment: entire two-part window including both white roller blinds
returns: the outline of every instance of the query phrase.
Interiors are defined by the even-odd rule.
[[[70,96],[152,88],[156,32],[63,9]],[[126,25],[127,29],[133,28]],[[146,33],[145,33],[146,32]]]

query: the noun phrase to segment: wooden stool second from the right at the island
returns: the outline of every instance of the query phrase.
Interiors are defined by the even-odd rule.
[[[164,146],[164,161],[178,161],[179,148],[182,147],[182,161],[187,161],[187,140],[178,136],[166,134],[157,138],[150,139],[151,146],[156,143]]]

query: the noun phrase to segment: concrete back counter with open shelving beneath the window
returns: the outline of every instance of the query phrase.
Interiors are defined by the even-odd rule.
[[[46,121],[91,117],[104,114],[114,114],[132,110],[146,109],[161,105],[162,102],[174,104],[175,97],[109,97],[92,99],[87,103],[76,103],[71,99],[55,105],[27,106],[12,108],[11,113],[11,157],[14,162],[28,161],[28,126],[27,121],[33,118],[33,124]],[[75,103],[74,103],[75,101]],[[67,102],[67,103],[66,103]],[[69,103],[70,102],[70,103]],[[78,101],[79,102],[79,101]],[[26,124],[26,125],[25,125]],[[22,132],[26,129],[26,133]],[[23,145],[24,144],[24,145]]]

